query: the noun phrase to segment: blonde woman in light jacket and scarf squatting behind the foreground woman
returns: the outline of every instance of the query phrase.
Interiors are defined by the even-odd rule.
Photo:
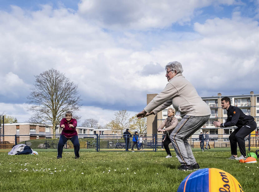
[[[158,132],[165,133],[164,149],[167,153],[167,156],[165,158],[172,157],[172,154],[169,149],[169,144],[171,143],[170,134],[172,133],[173,129],[178,124],[178,119],[174,115],[175,115],[175,109],[170,107],[167,110],[167,118],[163,121],[163,123],[157,129]]]

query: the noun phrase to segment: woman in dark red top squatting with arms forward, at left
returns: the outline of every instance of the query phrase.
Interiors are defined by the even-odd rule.
[[[76,132],[77,121],[76,119],[72,119],[71,111],[67,111],[65,116],[66,118],[63,118],[60,121],[60,127],[63,128],[63,130],[57,145],[57,158],[59,159],[62,157],[63,147],[67,142],[67,140],[70,139],[74,145],[74,151],[76,156],[75,159],[78,159],[80,157],[79,156],[80,144],[79,144],[79,140]]]

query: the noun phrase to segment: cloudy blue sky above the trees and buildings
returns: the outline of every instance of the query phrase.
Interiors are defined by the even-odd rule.
[[[35,75],[78,85],[81,116],[137,114],[178,61],[200,96],[259,94],[259,0],[0,0],[0,112],[26,122]]]

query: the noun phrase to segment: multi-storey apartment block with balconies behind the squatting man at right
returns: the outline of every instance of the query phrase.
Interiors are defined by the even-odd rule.
[[[157,94],[147,94],[147,103],[149,103]],[[208,122],[203,125],[194,134],[199,134],[201,131],[205,133],[209,131],[209,134],[231,134],[234,130],[234,127],[228,128],[217,128],[213,126],[213,121],[220,121],[224,123],[227,119],[227,110],[223,110],[221,107],[221,99],[225,97],[221,93],[218,93],[217,96],[206,96],[202,97],[203,101],[206,102],[211,109],[211,116]],[[258,133],[259,129],[259,94],[254,94],[253,91],[248,95],[228,95],[231,99],[231,105],[239,107],[244,114],[251,115],[255,118],[257,122],[257,129],[253,133]],[[173,106],[171,106],[173,107]],[[178,120],[181,119],[180,114],[176,111],[175,117]],[[147,117],[147,134],[157,133],[157,128],[159,125],[167,118],[167,109],[160,111],[157,115],[150,115]]]

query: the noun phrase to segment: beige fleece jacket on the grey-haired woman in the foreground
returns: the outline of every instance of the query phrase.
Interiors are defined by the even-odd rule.
[[[155,96],[144,110],[157,114],[172,104],[175,110],[180,112],[181,117],[211,114],[209,106],[198,95],[193,85],[183,77],[182,73],[178,73],[170,79],[164,90]]]

